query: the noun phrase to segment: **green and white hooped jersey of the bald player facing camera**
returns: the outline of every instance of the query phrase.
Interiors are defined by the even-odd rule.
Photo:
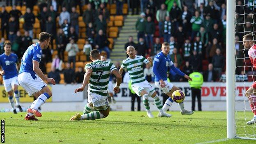
[[[135,84],[139,82],[144,82],[146,80],[143,73],[143,63],[147,64],[148,62],[149,60],[145,57],[136,55],[135,59],[131,59],[128,57],[123,60],[121,67],[123,69],[127,69],[132,84]]]

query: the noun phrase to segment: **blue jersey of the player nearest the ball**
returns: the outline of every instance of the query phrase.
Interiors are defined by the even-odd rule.
[[[165,55],[164,53],[158,53],[153,61],[153,72],[157,71],[159,75],[155,74],[155,81],[167,80],[167,71],[168,67],[172,66],[173,62],[171,62],[170,55]],[[158,78],[160,77],[160,78]]]

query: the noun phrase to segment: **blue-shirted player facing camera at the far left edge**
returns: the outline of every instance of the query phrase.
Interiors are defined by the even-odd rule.
[[[18,94],[18,56],[14,53],[11,53],[11,43],[9,41],[4,43],[4,49],[5,53],[0,55],[0,66],[2,67],[0,74],[3,77],[5,91],[8,93],[9,103],[13,109],[14,114],[17,114],[16,108],[14,106],[14,98],[20,112],[23,111],[20,105],[20,96]]]

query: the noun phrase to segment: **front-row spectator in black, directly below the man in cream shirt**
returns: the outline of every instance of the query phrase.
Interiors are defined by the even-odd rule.
[[[63,70],[64,84],[73,84],[75,79],[75,71],[71,69],[70,63],[66,63],[66,69]]]

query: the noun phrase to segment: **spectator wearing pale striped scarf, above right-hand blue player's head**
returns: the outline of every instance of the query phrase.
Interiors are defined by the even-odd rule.
[[[169,16],[165,16],[165,21],[162,27],[162,34],[164,35],[164,41],[169,43],[169,39],[174,32],[174,26],[170,21]]]

